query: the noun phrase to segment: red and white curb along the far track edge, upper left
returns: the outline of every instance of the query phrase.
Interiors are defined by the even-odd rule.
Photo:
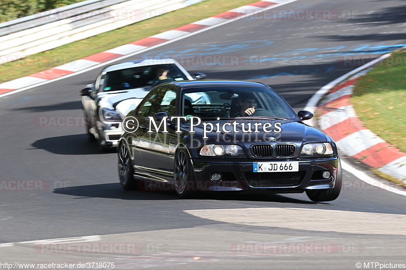
[[[175,42],[187,36],[232,22],[234,20],[251,16],[265,10],[277,8],[295,1],[297,0],[263,0],[255,2],[240,8],[217,14],[210,18],[178,27],[173,30],[143,38],[142,40],[135,41],[130,44],[122,45],[120,47],[97,53],[80,60],[31,74],[23,78],[15,79],[0,84],[0,97],[11,94],[10,92],[17,92],[15,90],[23,91],[26,90],[26,88],[40,86],[64,76],[73,75],[77,72],[85,72],[89,69],[99,67],[100,64],[107,64],[109,62],[120,60],[120,58],[139,54],[158,46]]]

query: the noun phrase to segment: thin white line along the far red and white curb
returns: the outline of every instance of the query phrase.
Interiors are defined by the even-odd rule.
[[[46,85],[46,84],[49,84],[49,83],[57,82],[57,81],[59,81],[59,80],[64,80],[64,79],[70,78],[70,77],[72,77],[72,76],[76,76],[76,75],[85,73],[85,72],[87,72],[87,71],[90,71],[90,70],[93,70],[93,69],[96,69],[96,68],[99,68],[99,67],[104,67],[104,66],[109,65],[109,64],[111,64],[111,63],[119,62],[119,61],[121,61],[121,60],[123,60],[123,59],[126,59],[126,58],[128,58],[128,57],[131,57],[131,56],[133,56],[133,55],[141,54],[141,53],[144,53],[144,52],[147,52],[147,51],[156,49],[156,48],[158,48],[158,47],[161,47],[161,46],[164,46],[164,45],[171,44],[171,43],[173,43],[173,42],[177,42],[177,41],[183,40],[183,39],[186,38],[186,37],[189,37],[189,36],[192,36],[192,35],[195,35],[195,34],[199,34],[199,33],[201,33],[201,32],[208,31],[208,30],[211,30],[211,29],[216,28],[216,27],[220,27],[220,26],[225,25],[225,24],[227,24],[227,23],[231,23],[231,22],[234,22],[234,21],[236,21],[236,20],[241,20],[241,19],[244,19],[244,18],[246,18],[246,17],[255,15],[255,14],[257,14],[257,13],[260,13],[260,12],[263,12],[263,11],[266,11],[266,10],[270,10],[270,9],[275,9],[275,8],[280,7],[280,6],[287,5],[287,4],[296,2],[296,1],[298,1],[298,0],[290,0],[290,1],[279,0],[279,1],[275,1],[275,3],[280,3],[280,2],[282,2],[282,3],[281,3],[281,4],[278,4],[278,5],[269,6],[269,7],[267,7],[267,8],[264,8],[264,9],[261,9],[261,10],[255,11],[255,12],[252,12],[252,13],[250,13],[250,14],[246,14],[246,15],[240,16],[240,17],[238,17],[238,18],[234,18],[234,19],[230,19],[230,20],[225,20],[225,21],[223,21],[223,22],[221,22],[221,23],[218,23],[218,24],[216,24],[216,25],[212,25],[212,26],[209,26],[209,27],[207,27],[207,28],[204,28],[204,29],[200,29],[200,30],[191,32],[191,33],[189,33],[189,34],[187,34],[187,35],[183,35],[183,36],[180,36],[180,37],[178,37],[178,38],[174,38],[173,40],[170,40],[170,41],[167,41],[167,42],[163,42],[163,43],[158,44],[158,45],[155,45],[155,46],[148,47],[148,48],[146,48],[146,49],[144,49],[144,50],[141,50],[141,51],[133,52],[133,53],[131,53],[131,54],[123,55],[123,56],[120,56],[120,57],[118,57],[118,58],[109,60],[109,61],[107,61],[107,62],[103,62],[103,63],[99,63],[99,64],[96,64],[96,65],[91,66],[91,67],[87,67],[87,68],[85,68],[85,69],[83,69],[83,70],[80,70],[80,71],[77,71],[77,72],[75,72],[75,73],[67,74],[67,75],[65,75],[65,76],[62,76],[62,77],[59,77],[59,78],[55,78],[55,79],[52,79],[52,80],[48,80],[48,81],[46,81],[46,82],[42,82],[42,83],[39,83],[39,84],[36,84],[36,85],[27,86],[27,87],[20,88],[20,89],[17,89],[17,90],[8,92],[8,93],[1,94],[1,95],[0,95],[0,98],[5,97],[5,96],[9,96],[9,95],[13,95],[13,94],[16,94],[16,93],[20,93],[20,92],[26,91],[26,90],[31,89],[31,88],[36,88],[36,87],[39,87],[39,86],[42,86],[42,85]],[[270,1],[270,2],[273,2],[273,1]],[[208,19],[210,19],[210,18],[208,18]],[[202,21],[203,21],[203,20],[202,20]],[[197,22],[196,22],[196,23],[197,23]],[[69,64],[69,63],[68,63],[68,64]],[[67,65],[67,64],[66,64],[66,65]],[[62,66],[63,66],[63,65],[62,65]],[[58,67],[54,67],[54,68],[58,68]],[[61,68],[61,66],[59,66],[59,68]],[[11,89],[13,89],[13,88],[11,88]],[[79,90],[78,90],[78,91],[79,91]]]

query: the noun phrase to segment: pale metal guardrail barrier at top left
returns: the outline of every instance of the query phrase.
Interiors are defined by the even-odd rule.
[[[0,64],[111,31],[202,0],[87,0],[0,24]]]

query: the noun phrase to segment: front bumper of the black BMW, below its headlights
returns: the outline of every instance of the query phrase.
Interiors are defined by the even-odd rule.
[[[194,167],[193,185],[195,190],[243,191],[263,190],[273,193],[301,193],[311,189],[333,188],[338,173],[339,157],[307,160],[278,160],[275,162],[298,161],[298,172],[253,173],[254,162],[274,162],[275,160],[244,160],[227,162],[225,160],[192,159]],[[322,177],[323,171],[330,171],[328,179]],[[222,175],[219,181],[211,180],[214,173]]]

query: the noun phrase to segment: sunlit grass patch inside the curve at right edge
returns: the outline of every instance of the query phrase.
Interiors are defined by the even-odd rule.
[[[406,52],[393,55],[356,83],[352,104],[364,125],[406,152]]]

